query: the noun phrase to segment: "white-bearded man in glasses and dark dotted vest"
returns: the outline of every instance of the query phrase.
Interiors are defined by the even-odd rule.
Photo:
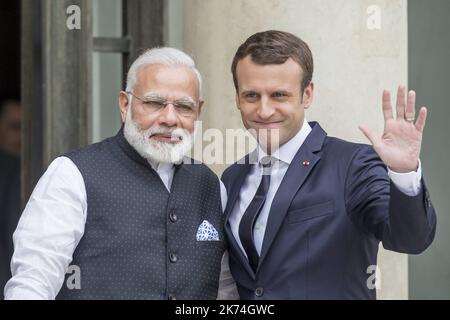
[[[185,53],[157,48],[136,59],[119,93],[118,134],[56,158],[34,189],[5,298],[236,297],[226,191],[187,157],[202,104]]]

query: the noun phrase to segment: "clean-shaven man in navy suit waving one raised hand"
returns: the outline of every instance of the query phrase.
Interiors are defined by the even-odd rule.
[[[328,137],[304,110],[313,99],[308,45],[280,31],[254,34],[232,64],[236,103],[258,148],[229,167],[225,232],[242,299],[375,299],[378,245],[418,254],[436,216],[419,154],[426,108],[383,93],[372,146]]]

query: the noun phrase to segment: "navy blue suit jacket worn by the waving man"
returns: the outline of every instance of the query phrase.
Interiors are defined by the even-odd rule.
[[[423,181],[409,197],[371,146],[310,125],[272,202],[256,273],[228,223],[251,165],[233,164],[222,176],[230,269],[242,299],[375,299],[368,283],[379,242],[418,254],[433,241],[436,215]]]

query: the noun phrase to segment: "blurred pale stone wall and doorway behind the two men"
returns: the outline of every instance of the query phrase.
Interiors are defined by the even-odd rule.
[[[400,83],[428,107],[421,160],[436,238],[418,256],[380,250],[378,298],[450,299],[449,17],[448,0],[1,1],[0,288],[36,182],[58,155],[117,132],[118,92],[139,53],[172,46],[190,54],[204,77],[203,129],[224,132],[242,128],[234,52],[251,34],[280,29],[311,47],[316,93],[306,117],[329,135],[366,142],[359,124],[381,134],[381,92]],[[238,146],[234,158],[242,153]],[[211,167],[221,174],[226,165]]]

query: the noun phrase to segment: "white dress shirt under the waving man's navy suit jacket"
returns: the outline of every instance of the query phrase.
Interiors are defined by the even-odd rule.
[[[258,218],[256,219],[255,228],[253,230],[255,247],[258,251],[258,254],[261,254],[262,242],[264,239],[264,233],[266,231],[267,220],[269,218],[269,211],[275,193],[277,192],[289,165],[294,159],[295,154],[310,132],[311,126],[305,119],[300,131],[291,140],[283,144],[276,152],[271,155],[272,158],[275,158],[278,161],[276,161],[275,165],[272,166],[270,186],[267,192],[266,201],[263,205],[263,208],[261,209]],[[252,165],[252,168],[250,169],[250,172],[242,185],[241,191],[239,192],[239,197],[229,217],[231,231],[233,232],[234,238],[236,239],[245,256],[247,256],[247,254],[242,247],[242,243],[239,237],[239,223],[241,222],[241,218],[244,215],[245,210],[253,200],[256,194],[256,190],[258,189],[261,182],[262,167],[260,165],[260,160],[263,157],[267,156],[267,154],[259,146],[254,152],[257,152],[258,163]],[[419,194],[420,180],[422,177],[420,161],[417,171],[408,173],[396,173],[388,169],[388,174],[393,183],[403,193],[410,196]]]

